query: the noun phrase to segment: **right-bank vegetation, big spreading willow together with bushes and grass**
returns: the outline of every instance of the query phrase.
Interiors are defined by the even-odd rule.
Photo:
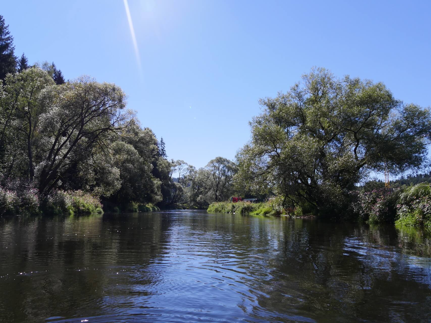
[[[313,68],[287,93],[260,103],[251,140],[237,153],[235,188],[244,196],[277,196],[281,206],[239,206],[240,212],[282,209],[429,226],[428,183],[370,189],[369,181],[372,171],[398,176],[429,165],[429,109],[395,99],[382,83],[338,79],[324,68]],[[218,203],[209,211],[231,208],[236,206]]]

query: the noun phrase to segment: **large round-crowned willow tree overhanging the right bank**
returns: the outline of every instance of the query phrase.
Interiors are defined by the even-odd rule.
[[[425,161],[430,111],[394,99],[382,83],[314,68],[260,104],[252,139],[237,155],[242,189],[339,214],[370,171],[397,174]]]

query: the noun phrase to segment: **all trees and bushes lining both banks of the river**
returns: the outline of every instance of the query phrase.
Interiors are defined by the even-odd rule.
[[[369,180],[429,164],[429,109],[382,83],[312,68],[260,100],[235,161],[197,169],[167,159],[163,138],[141,126],[120,87],[66,81],[54,63],[17,58],[2,16],[0,37],[0,215],[208,208],[429,226],[426,183],[384,189]],[[232,195],[270,199],[223,202]]]

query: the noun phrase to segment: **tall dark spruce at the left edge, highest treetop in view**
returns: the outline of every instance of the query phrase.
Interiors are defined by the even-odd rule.
[[[16,71],[16,57],[14,55],[13,37],[9,32],[9,25],[5,25],[0,15],[0,79],[4,80],[7,73]]]

